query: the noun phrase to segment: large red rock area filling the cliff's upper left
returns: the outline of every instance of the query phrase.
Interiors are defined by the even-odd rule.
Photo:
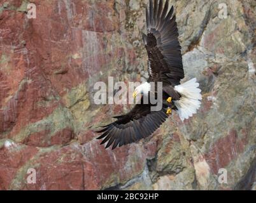
[[[89,11],[95,14],[95,30],[90,25],[77,25],[74,10],[67,13],[68,5],[63,2],[32,3],[37,6],[37,18],[28,20],[26,24],[25,13],[4,10],[1,14],[2,44],[6,48],[1,49],[0,54],[9,57],[9,62],[6,63],[9,68],[8,72],[0,71],[0,132],[10,131],[10,138],[24,126],[40,121],[52,114],[58,105],[62,105],[62,101],[48,101],[49,97],[65,95],[68,89],[87,81],[90,75],[99,72],[104,65],[125,55],[124,49],[118,47],[113,47],[108,53],[104,51],[106,41],[103,36],[108,39],[112,34],[101,32],[113,32],[117,29],[118,19],[108,17],[115,12],[113,1],[96,4],[71,2],[71,7],[76,6],[78,15],[83,15],[79,19],[87,19]],[[22,1],[10,4],[18,8]],[[59,11],[56,12],[57,10]],[[71,18],[74,18],[74,22]],[[89,44],[94,46],[93,41],[83,34],[90,31],[96,31],[92,34],[97,38],[96,52],[92,56],[89,54],[91,49],[88,49],[88,53],[83,50]],[[20,33],[20,36],[15,33]],[[14,49],[10,51],[8,46]],[[82,51],[84,55],[88,55],[87,58],[82,56]],[[71,57],[76,54],[78,58]],[[47,106],[39,103],[47,103]]]

